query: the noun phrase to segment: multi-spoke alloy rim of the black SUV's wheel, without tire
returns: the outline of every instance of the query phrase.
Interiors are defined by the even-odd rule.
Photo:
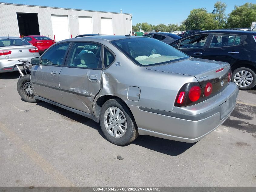
[[[239,87],[248,87],[252,82],[253,77],[249,71],[241,70],[234,75],[234,83]]]

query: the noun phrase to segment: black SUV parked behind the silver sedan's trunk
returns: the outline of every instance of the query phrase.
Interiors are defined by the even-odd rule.
[[[228,62],[233,73],[231,80],[239,89],[256,85],[256,32],[202,31],[170,45],[192,57]]]

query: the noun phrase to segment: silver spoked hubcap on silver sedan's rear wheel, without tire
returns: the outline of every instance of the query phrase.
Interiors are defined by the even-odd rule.
[[[104,113],[104,125],[112,137],[124,136],[127,126],[124,113],[117,107],[109,107]]]

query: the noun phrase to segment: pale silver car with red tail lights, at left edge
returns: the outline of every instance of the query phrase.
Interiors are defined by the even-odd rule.
[[[38,49],[19,37],[0,37],[0,73],[18,71],[18,60],[39,57]]]

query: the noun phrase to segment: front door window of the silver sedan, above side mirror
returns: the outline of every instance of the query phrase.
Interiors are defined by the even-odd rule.
[[[48,49],[42,56],[42,65],[62,65],[69,43],[61,43]]]

